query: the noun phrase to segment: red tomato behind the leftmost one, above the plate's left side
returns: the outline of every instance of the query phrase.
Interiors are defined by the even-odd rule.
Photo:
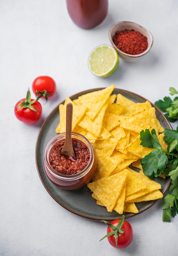
[[[47,97],[51,97],[56,92],[56,83],[50,76],[38,76],[32,83],[32,90],[34,94],[46,90]]]

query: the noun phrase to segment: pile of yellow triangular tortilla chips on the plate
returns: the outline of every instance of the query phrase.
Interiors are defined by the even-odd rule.
[[[60,104],[60,122],[56,133],[65,132],[66,105],[73,105],[72,130],[91,142],[97,159],[97,170],[87,186],[96,204],[107,211],[138,213],[136,202],[162,198],[159,183],[150,180],[142,171],[140,159],[153,149],[140,145],[140,131],[153,128],[160,144],[167,150],[164,129],[156,118],[149,101],[135,103],[112,94],[115,85],[83,94]],[[134,171],[130,166],[140,168]]]

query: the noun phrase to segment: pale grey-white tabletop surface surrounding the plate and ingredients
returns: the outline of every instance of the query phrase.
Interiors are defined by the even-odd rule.
[[[98,78],[87,66],[89,53],[97,45],[110,45],[109,28],[122,20],[149,29],[154,37],[151,52],[138,63],[120,59],[115,74]],[[106,225],[81,218],[51,198],[35,163],[42,121],[60,101],[114,83],[116,88],[136,92],[154,103],[169,96],[169,87],[178,90],[177,56],[176,0],[109,0],[107,18],[91,30],[74,25],[65,0],[0,0],[0,255],[178,254],[178,216],[163,223],[161,200],[128,219],[134,239],[129,247],[118,250],[107,239],[99,242]],[[39,75],[53,77],[57,94],[47,104],[40,100],[42,119],[27,126],[16,119],[13,106]]]

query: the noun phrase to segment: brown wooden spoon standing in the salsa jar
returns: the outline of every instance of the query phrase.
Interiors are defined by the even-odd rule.
[[[72,146],[72,113],[73,113],[73,106],[72,103],[68,103],[66,106],[66,137],[65,143],[61,150],[63,155],[68,155],[76,160],[76,154],[73,151]]]

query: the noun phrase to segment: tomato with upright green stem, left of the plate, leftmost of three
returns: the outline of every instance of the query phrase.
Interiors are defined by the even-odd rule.
[[[42,106],[37,100],[31,99],[30,91],[28,90],[27,97],[16,103],[14,113],[17,119],[25,124],[34,124],[42,115]]]

